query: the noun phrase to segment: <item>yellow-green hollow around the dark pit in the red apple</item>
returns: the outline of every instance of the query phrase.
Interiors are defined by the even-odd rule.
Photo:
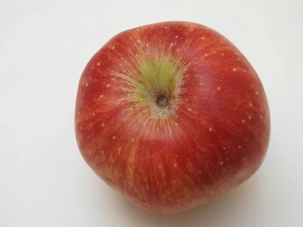
[[[178,68],[178,62],[165,58],[140,63],[140,74],[131,80],[136,88],[131,96],[141,107],[150,108],[151,119],[175,117],[183,76]]]

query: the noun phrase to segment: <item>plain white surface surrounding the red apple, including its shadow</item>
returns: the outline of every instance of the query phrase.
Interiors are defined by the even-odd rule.
[[[303,226],[303,3],[291,1],[0,2],[0,226]],[[259,171],[187,212],[126,202],[82,159],[77,85],[91,56],[120,31],[169,20],[210,26],[258,72],[272,136]]]

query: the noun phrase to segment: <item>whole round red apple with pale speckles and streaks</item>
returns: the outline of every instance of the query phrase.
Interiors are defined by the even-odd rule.
[[[79,82],[75,133],[111,188],[144,209],[177,213],[258,170],[270,112],[254,68],[223,35],[161,22],[121,32],[92,56]]]

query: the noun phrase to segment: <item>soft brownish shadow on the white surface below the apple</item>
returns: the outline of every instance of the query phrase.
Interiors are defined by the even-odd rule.
[[[112,210],[112,212],[119,214],[119,221],[125,223],[125,226],[229,226],[228,223],[233,225],[232,223],[235,223],[235,220],[237,220],[237,224],[242,226],[242,224],[245,225],[243,216],[245,217],[248,212],[251,213],[252,208],[249,207],[260,207],[262,209],[260,193],[262,191],[262,181],[265,180],[262,178],[257,172],[245,183],[223,196],[193,209],[170,215],[156,214],[144,210],[112,191],[111,193],[115,195],[111,195],[111,200],[116,204],[114,207],[116,210]],[[260,196],[259,199],[258,196]],[[259,210],[259,212],[262,212],[262,210]]]

